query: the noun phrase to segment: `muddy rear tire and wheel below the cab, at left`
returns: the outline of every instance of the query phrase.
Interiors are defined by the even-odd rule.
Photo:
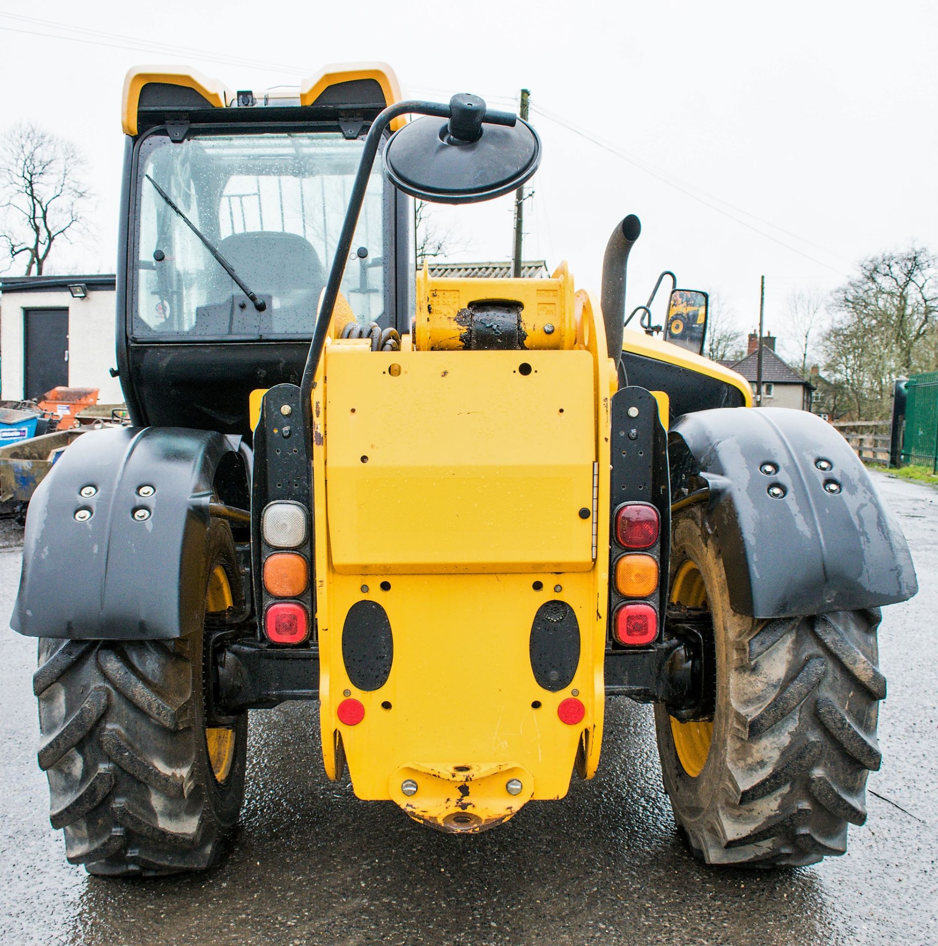
[[[222,573],[239,595],[231,530],[212,520],[200,576],[210,603]],[[207,730],[204,621],[194,615],[178,640],[40,639],[33,689],[50,820],[69,862],[91,874],[209,867],[237,820],[247,713],[220,737]]]

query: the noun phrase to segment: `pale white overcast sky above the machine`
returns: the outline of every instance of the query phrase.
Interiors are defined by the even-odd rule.
[[[792,289],[832,289],[861,257],[912,241],[938,251],[933,2],[0,0],[0,44],[0,128],[36,121],[88,157],[97,236],[60,272],[113,272],[121,87],[140,63],[256,92],[384,60],[405,95],[469,91],[500,108],[525,86],[544,143],[525,256],[566,259],[598,290],[610,231],[637,213],[630,307],[671,269],[748,329],[764,273],[766,325],[783,333]],[[511,198],[443,225],[461,259],[511,254]]]

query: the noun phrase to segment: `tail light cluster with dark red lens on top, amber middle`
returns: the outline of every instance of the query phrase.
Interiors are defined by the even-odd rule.
[[[658,636],[661,517],[651,503],[627,502],[616,510],[613,533],[613,639],[646,646]]]

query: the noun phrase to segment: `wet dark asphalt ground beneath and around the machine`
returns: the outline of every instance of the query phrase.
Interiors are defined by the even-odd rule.
[[[882,770],[848,853],[756,871],[695,862],[675,833],[651,710],[610,701],[599,776],[507,825],[453,837],[327,781],[317,710],[252,713],[231,852],[200,876],[89,877],[64,859],[36,766],[33,641],[0,633],[0,942],[15,944],[938,943],[938,491],[875,474],[922,590],[887,608]],[[0,622],[20,569],[0,535]],[[60,588],[67,593],[67,576]]]

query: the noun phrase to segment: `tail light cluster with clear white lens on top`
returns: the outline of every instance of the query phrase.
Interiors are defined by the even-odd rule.
[[[261,538],[264,633],[275,644],[302,644],[309,637],[309,561],[298,551],[309,546],[304,505],[269,503],[261,517]]]

